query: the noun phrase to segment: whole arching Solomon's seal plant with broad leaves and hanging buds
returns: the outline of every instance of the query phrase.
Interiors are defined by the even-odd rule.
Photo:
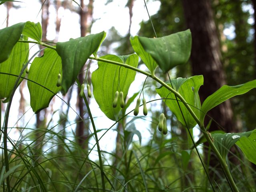
[[[131,83],[135,79],[136,73],[138,72],[152,78],[161,85],[155,88],[155,91],[163,100],[166,100],[166,106],[183,127],[191,130],[191,128],[197,125],[200,128],[222,165],[230,188],[232,191],[238,191],[226,163],[227,153],[231,146],[237,144],[245,156],[248,157],[248,160],[255,163],[256,160],[250,158],[248,153],[249,145],[247,145],[248,140],[251,139],[250,135],[255,133],[255,131],[243,134],[238,133],[236,137],[232,137],[234,135],[227,136],[227,134],[218,133],[212,134],[210,138],[204,127],[204,118],[206,113],[218,104],[236,95],[244,94],[252,88],[256,88],[256,80],[238,86],[224,85],[201,104],[198,90],[204,83],[202,75],[188,78],[169,78],[167,82],[164,82],[155,75],[157,66],[159,66],[163,73],[167,73],[169,76],[168,72],[174,66],[187,62],[191,51],[190,30],[161,38],[131,37],[130,42],[135,51],[134,54],[97,56],[97,51],[105,36],[106,33],[103,31],[76,39],[71,38],[67,42],[58,42],[56,46],[51,46],[42,42],[42,28],[39,23],[23,22],[0,30],[0,98],[4,99],[4,102],[8,102],[2,131],[4,138],[4,153],[2,155],[5,162],[5,170],[2,170],[2,172],[6,174],[7,188],[10,189],[8,174],[10,173],[9,162],[11,156],[11,152],[7,150],[8,114],[14,92],[25,78],[26,74],[24,72],[31,58],[34,57],[30,57],[30,59],[28,57],[28,44],[32,43],[46,47],[44,56],[36,57],[32,61],[27,77],[32,110],[37,113],[47,108],[54,95],[58,92],[62,92],[65,95],[69,88],[77,82],[81,90],[79,96],[84,98],[93,126],[93,134],[99,155],[98,168],[101,172],[103,191],[105,191],[105,179],[107,176],[103,170],[97,130],[84,94],[85,84],[81,85],[77,80],[79,72],[88,59],[97,60],[98,68],[92,73],[91,77],[93,95],[99,108],[110,120],[118,122],[124,117],[122,112],[127,107],[127,104],[125,105],[125,98]],[[32,40],[28,41],[28,38]],[[139,57],[147,66],[149,72],[137,68]],[[91,97],[91,88],[88,82],[87,93],[88,97]],[[144,96],[142,102],[143,114],[146,116],[147,106]],[[133,111],[135,116],[139,114],[140,104],[141,99],[138,98]],[[167,122],[163,113],[159,117],[158,129],[163,134],[167,134]],[[196,148],[196,145],[194,147]],[[14,146],[15,150],[17,148]],[[203,163],[202,165],[204,166]],[[205,172],[207,174],[207,170]]]

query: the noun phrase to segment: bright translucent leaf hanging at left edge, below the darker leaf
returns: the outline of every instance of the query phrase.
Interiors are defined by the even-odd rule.
[[[17,42],[10,53],[10,57],[0,63],[0,72],[19,75],[23,65],[28,61],[28,43]],[[22,77],[25,73],[22,74]],[[4,102],[8,102],[10,94],[14,89],[16,76],[10,76],[6,74],[0,74],[0,99],[4,99]],[[19,83],[22,81],[20,79]]]

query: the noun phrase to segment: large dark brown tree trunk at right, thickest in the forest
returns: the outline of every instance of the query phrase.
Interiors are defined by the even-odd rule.
[[[210,0],[200,0],[192,2],[182,0],[187,27],[192,34],[191,63],[193,75],[204,76],[204,86],[200,88],[199,94],[201,102],[209,95],[226,84],[226,77],[221,63],[220,43],[217,35],[216,25]],[[233,123],[233,112],[230,101],[210,110],[208,113],[214,121],[210,126],[210,131],[224,128],[225,132],[236,132]],[[205,125],[210,118],[206,116]],[[205,153],[207,154],[207,150]],[[207,157],[207,155],[206,155]],[[216,167],[218,161],[211,157],[210,167]]]

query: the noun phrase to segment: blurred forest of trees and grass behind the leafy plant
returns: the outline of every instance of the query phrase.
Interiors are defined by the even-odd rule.
[[[102,9],[101,12],[111,12],[113,5],[117,5],[117,7],[125,8],[123,10],[126,11],[126,15],[115,8],[115,14],[118,15],[115,17],[119,17],[119,20],[113,24],[114,27],[106,30],[107,38],[101,46],[100,55],[133,53],[129,38],[136,33],[140,36],[154,37],[157,35],[161,37],[190,28],[192,51],[189,64],[177,66],[172,71],[172,78],[203,74],[205,78],[204,86],[200,89],[201,100],[204,100],[224,84],[237,85],[256,79],[255,1],[203,0],[196,4],[189,0],[146,1],[149,14],[152,14],[151,20],[154,29],[148,20],[144,2],[138,3],[139,0],[123,2],[89,0],[77,1],[76,3],[69,0],[42,0],[38,1],[38,10],[34,9],[35,13],[38,14],[37,18],[32,18],[31,21],[40,17],[39,21],[43,30],[42,39],[45,42],[65,41],[69,38],[94,33],[97,30],[95,29],[96,25],[99,26],[99,31],[105,30],[101,26],[104,26],[105,22],[109,22],[109,19],[106,21],[104,15],[99,16],[95,10],[99,7]],[[22,7],[24,4],[6,2],[0,6],[1,10],[5,10],[6,13],[4,17],[1,16],[1,28],[10,25],[11,20],[15,20],[17,17],[15,12],[20,9],[20,6]],[[107,6],[111,10],[107,10]],[[135,9],[135,7],[137,8]],[[156,7],[159,7],[159,10],[156,10]],[[74,19],[76,18],[76,21],[72,20],[67,24],[67,28],[62,28],[62,24],[65,25],[65,11]],[[1,14],[3,13],[4,11],[1,11]],[[140,28],[136,27],[140,19],[134,19],[135,16],[141,18]],[[113,21],[111,20],[110,23]],[[61,33],[64,33],[62,31],[65,31],[65,35],[60,36]],[[36,52],[38,49],[34,46],[31,51]],[[42,55],[42,53],[40,54]],[[91,72],[96,68],[96,62],[92,62],[87,74],[89,82]],[[139,68],[145,69],[143,66],[139,66]],[[157,69],[156,74],[167,80],[167,76],[163,76],[161,70]],[[85,73],[81,73],[79,79],[83,81],[84,78]],[[136,78],[142,77],[137,76]],[[143,82],[139,85],[135,80],[128,97],[137,96],[136,92],[141,90],[142,86]],[[155,82],[147,80],[144,90],[147,100],[160,98],[153,91],[157,86]],[[88,152],[89,154],[97,154],[97,152],[95,152],[96,149],[90,151],[95,141],[90,131],[91,124],[88,120],[86,107],[78,94],[79,90],[74,86],[63,98],[70,107],[54,98],[49,108],[34,114],[30,109],[26,83],[22,82],[16,91],[15,100],[17,102],[13,105],[12,111],[15,113],[11,115],[12,122],[10,122],[13,126],[10,128],[10,135],[13,136],[12,141],[34,156],[33,160],[41,165],[42,175],[44,175],[43,172],[47,172],[46,175],[52,175],[49,183],[55,185],[56,182],[54,188],[58,188],[58,191],[67,186],[72,191],[84,190],[85,188],[89,191],[98,191],[101,188],[99,185],[100,174],[97,174],[95,165],[92,163],[97,164],[97,156],[90,155],[90,159],[86,163],[82,160],[88,155]],[[214,108],[210,111],[209,116],[217,123],[212,122],[210,131],[244,132],[255,129],[255,104],[256,91],[251,90],[247,94],[232,98],[223,105]],[[19,106],[18,111],[15,109],[17,106]],[[90,99],[90,106],[93,109],[95,122],[98,118],[100,119],[97,128],[99,136],[101,136],[114,122],[104,117],[93,99]],[[131,104],[131,110],[134,106],[135,102]],[[1,103],[1,108],[3,117],[6,104]],[[80,121],[71,108],[79,116],[88,120],[86,121],[87,124]],[[187,148],[190,141],[186,131],[181,128],[175,116],[167,108],[165,109],[169,116],[167,124],[171,134],[163,136],[155,131],[160,110],[160,101],[151,102],[147,117],[135,118],[130,115],[125,120],[126,122],[118,123],[117,126],[111,128],[108,135],[105,135],[101,140],[104,164],[115,178],[113,185],[117,187],[118,182],[129,181],[134,177],[136,182],[129,182],[128,184],[128,186],[131,185],[129,186],[130,191],[143,190],[143,183],[145,184],[145,182],[147,182],[149,190],[152,191],[156,189],[157,191],[207,191],[209,183],[207,179],[202,180],[201,178],[201,176],[203,178],[206,176],[200,167],[198,156]],[[208,124],[209,119],[206,119],[206,124]],[[49,128],[50,132],[47,131]],[[194,136],[197,140],[200,132],[197,127],[194,130]],[[136,142],[132,141],[133,135],[136,135]],[[114,141],[113,145],[110,146],[109,141]],[[30,147],[26,148],[27,145]],[[218,162],[216,163],[214,158],[210,158],[207,147],[204,148],[204,152],[202,146],[199,148],[202,149],[200,153],[208,165],[214,181],[224,191],[228,186],[223,179],[224,176],[219,173]],[[235,175],[235,180],[239,180],[240,188],[253,191],[256,178],[255,167],[240,156],[238,148],[232,150],[230,167]],[[131,151],[135,151],[137,156],[132,156]],[[244,165],[246,165],[246,169],[243,169]],[[141,170],[144,170],[145,175],[141,174]],[[90,174],[92,171],[94,175]],[[61,174],[59,174],[60,172]],[[73,177],[73,175],[75,176]],[[17,178],[21,177],[17,176]],[[45,179],[48,178],[45,176]],[[27,177],[23,184],[15,186],[16,190],[37,191],[38,187],[34,186],[30,180],[31,178]],[[52,185],[48,187],[49,190],[53,188]]]

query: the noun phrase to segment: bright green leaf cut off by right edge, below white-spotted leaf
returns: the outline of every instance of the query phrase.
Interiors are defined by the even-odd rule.
[[[249,137],[241,137],[236,144],[240,147],[246,158],[256,164],[256,129],[252,131]]]

